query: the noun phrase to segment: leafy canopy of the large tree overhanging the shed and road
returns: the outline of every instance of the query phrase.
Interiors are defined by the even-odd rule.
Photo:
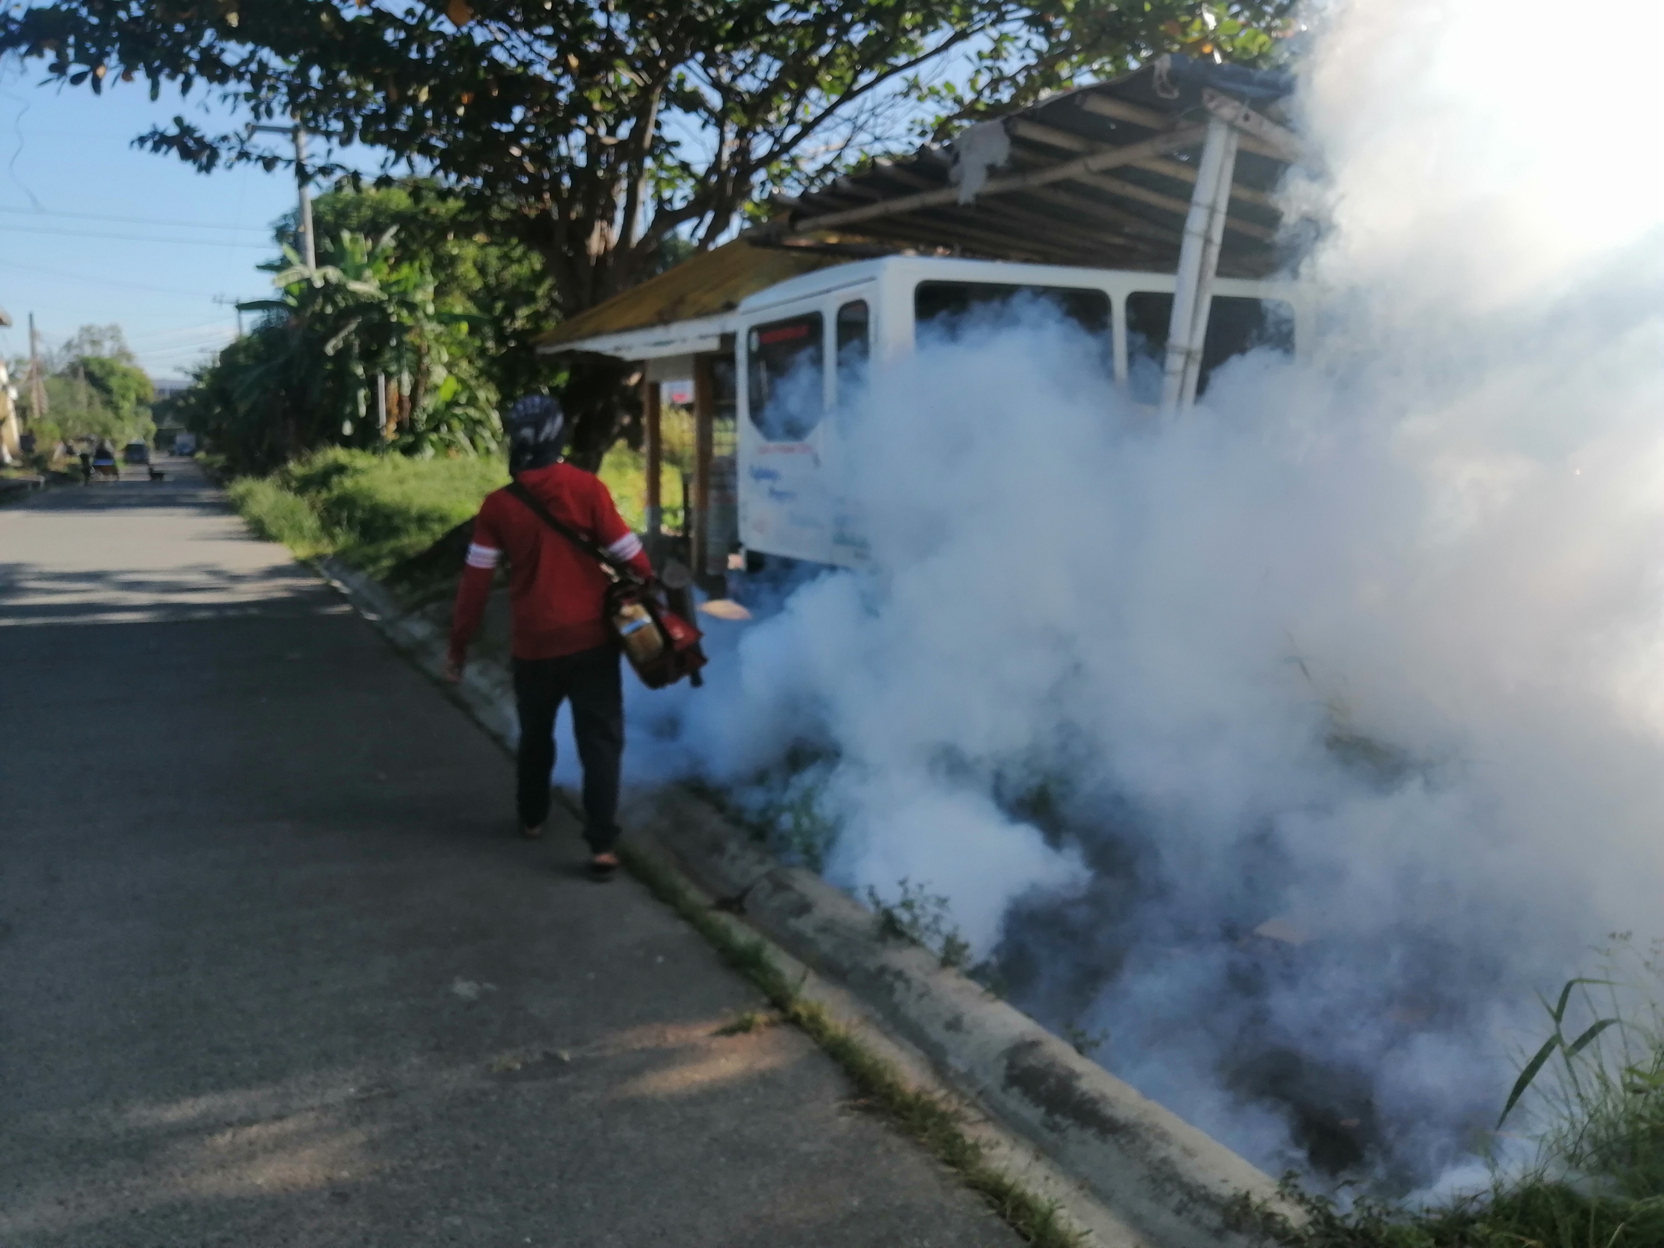
[[[206,85],[384,171],[431,175],[542,256],[561,311],[709,246],[765,190],[940,135],[1171,47],[1270,55],[1293,0],[57,0],[0,52],[103,92]],[[198,168],[281,146],[183,115],[143,141]],[[308,173],[329,173],[321,161]]]

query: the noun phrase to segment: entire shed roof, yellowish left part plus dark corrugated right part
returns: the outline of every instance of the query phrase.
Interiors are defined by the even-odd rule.
[[[779,215],[767,223],[564,321],[539,348],[722,318],[749,295],[885,250],[1171,273],[1210,100],[1271,110],[1270,125],[1248,115],[1238,126],[1220,253],[1221,275],[1265,276],[1288,260],[1271,191],[1291,161],[1293,140],[1275,123],[1275,102],[1290,90],[1285,75],[1156,58],[970,126],[947,146],[875,160],[824,190],[775,198]],[[970,170],[982,186],[967,196],[962,183],[978,151],[1003,158]],[[860,220],[840,220],[849,215]]]

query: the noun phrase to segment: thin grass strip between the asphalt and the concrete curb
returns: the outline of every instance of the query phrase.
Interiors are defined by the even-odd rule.
[[[983,1146],[965,1133],[963,1118],[950,1102],[910,1087],[895,1067],[869,1050],[825,1007],[802,997],[802,985],[794,983],[775,965],[760,940],[739,935],[672,872],[627,845],[621,849],[621,855],[631,874],[709,940],[724,962],[755,983],[785,1022],[804,1030],[844,1068],[864,1107],[882,1113],[953,1170],[1027,1243],[1037,1248],[1082,1248],[1083,1236],[1063,1223],[1053,1201],[1040,1200],[988,1165]]]

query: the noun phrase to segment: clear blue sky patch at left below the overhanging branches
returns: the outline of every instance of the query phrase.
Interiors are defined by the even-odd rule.
[[[153,378],[183,376],[235,333],[235,310],[215,296],[271,295],[255,265],[276,253],[271,223],[295,208],[293,173],[201,175],[133,148],[193,111],[176,92],[151,103],[143,83],[95,97],[38,78],[15,62],[0,78],[0,308],[12,314],[0,353],[28,353],[30,311],[50,344],[115,321]]]

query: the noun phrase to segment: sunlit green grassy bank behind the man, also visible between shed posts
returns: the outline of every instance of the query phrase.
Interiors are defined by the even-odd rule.
[[[601,466],[619,513],[642,527],[644,464],[627,446]],[[508,481],[503,459],[409,459],[371,451],[326,449],[296,459],[271,476],[238,478],[228,493],[253,529],[303,559],[336,556],[373,576],[424,551],[469,519],[479,501]],[[674,469],[664,498],[679,498]],[[667,518],[672,524],[674,518]]]

